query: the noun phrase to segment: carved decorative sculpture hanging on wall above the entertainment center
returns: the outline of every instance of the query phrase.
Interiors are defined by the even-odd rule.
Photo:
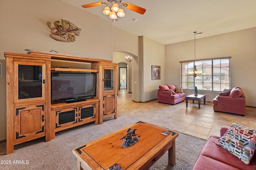
[[[47,22],[47,25],[51,29],[50,37],[57,41],[74,42],[81,31],[81,28],[67,20]]]

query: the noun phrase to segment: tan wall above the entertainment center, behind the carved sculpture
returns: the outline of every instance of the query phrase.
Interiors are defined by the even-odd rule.
[[[112,60],[112,21],[61,0],[1,0],[0,12],[0,59],[4,59],[4,52],[25,53],[28,48]],[[56,41],[49,36],[47,22],[62,19],[82,29],[75,42]]]

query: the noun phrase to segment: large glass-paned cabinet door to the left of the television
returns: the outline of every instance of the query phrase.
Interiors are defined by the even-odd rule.
[[[45,63],[14,62],[14,84],[16,102],[45,98]]]

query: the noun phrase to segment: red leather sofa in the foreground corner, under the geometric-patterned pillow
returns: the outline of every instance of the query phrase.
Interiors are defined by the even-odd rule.
[[[220,129],[220,136],[226,133],[228,127]],[[215,144],[220,137],[211,136],[200,152],[192,170],[256,170],[256,156],[249,165],[228,150]]]

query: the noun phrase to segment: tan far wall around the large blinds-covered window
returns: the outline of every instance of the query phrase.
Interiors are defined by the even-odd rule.
[[[194,34],[191,33],[191,37]],[[240,87],[246,95],[246,106],[256,107],[256,27],[212,37],[199,39],[196,36],[196,59],[208,59],[231,56],[231,88]],[[180,63],[194,59],[194,40],[166,45],[166,83],[180,86]],[[193,90],[186,90],[192,94]],[[216,92],[198,92],[206,94],[206,100],[212,102]]]

